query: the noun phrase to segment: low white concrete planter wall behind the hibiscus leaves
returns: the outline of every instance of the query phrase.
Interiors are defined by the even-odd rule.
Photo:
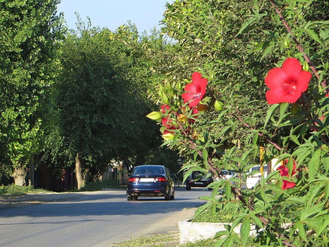
[[[231,225],[231,223],[209,223],[209,222],[191,222],[179,221],[179,241],[181,244],[186,242],[195,242],[201,239],[214,237],[219,231],[225,231],[224,224]],[[240,234],[240,226],[234,228],[234,232]],[[250,235],[254,234],[255,230],[250,231]]]

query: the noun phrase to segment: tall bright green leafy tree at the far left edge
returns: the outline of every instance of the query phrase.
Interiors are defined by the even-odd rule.
[[[62,17],[57,0],[0,1],[0,169],[25,184],[26,166],[43,148],[47,96],[59,71]]]

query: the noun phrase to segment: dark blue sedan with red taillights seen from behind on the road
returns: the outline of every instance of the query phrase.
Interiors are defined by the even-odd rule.
[[[166,201],[175,198],[175,174],[168,168],[157,165],[136,166],[127,182],[127,200],[137,200],[139,196],[164,196]]]

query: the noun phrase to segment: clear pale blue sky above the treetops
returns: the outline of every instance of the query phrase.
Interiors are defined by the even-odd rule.
[[[141,34],[153,27],[160,29],[158,25],[163,19],[166,2],[172,3],[173,0],[62,0],[57,10],[64,13],[70,29],[76,29],[74,13],[77,12],[84,22],[89,16],[92,27],[107,27],[111,31],[130,20]]]

